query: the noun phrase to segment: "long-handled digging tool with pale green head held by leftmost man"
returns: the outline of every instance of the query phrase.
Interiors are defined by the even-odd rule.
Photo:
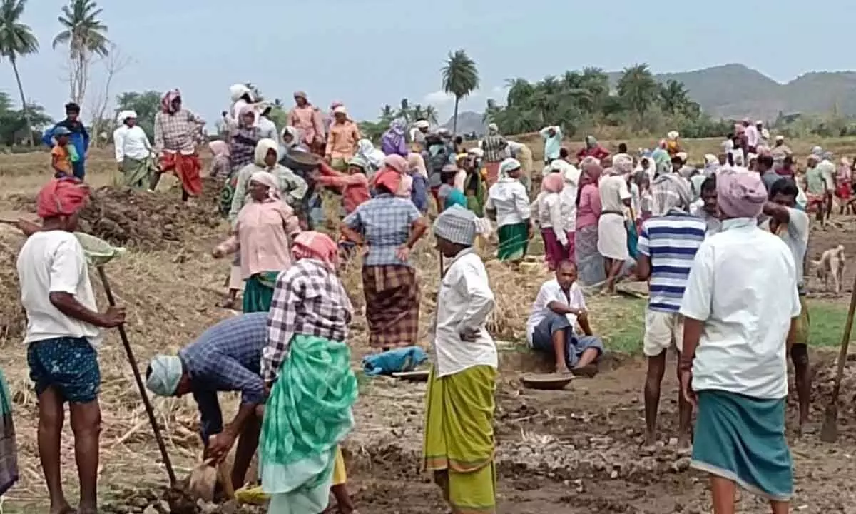
[[[107,280],[107,273],[104,272],[104,265],[115,259],[117,256],[125,253],[125,248],[115,248],[110,243],[99,239],[95,236],[75,232],[80,245],[86,252],[86,259],[98,269],[98,276],[101,278],[101,284],[104,286],[104,294],[107,296],[107,302],[110,307],[116,307],[116,299],[113,297],[113,290],[110,289],[110,281]],[[140,390],[140,397],[143,398],[143,405],[146,407],[146,415],[149,416],[149,423],[152,424],[152,432],[155,433],[155,439],[158,441],[158,448],[161,452],[163,464],[166,466],[167,475],[169,475],[169,486],[178,488],[178,481],[175,478],[175,470],[172,469],[172,461],[169,460],[169,453],[166,451],[166,445],[163,444],[163,436],[158,427],[158,421],[155,419],[155,412],[152,409],[152,403],[149,401],[149,395],[146,392],[146,386],[143,384],[143,379],[140,376],[140,370],[137,368],[137,359],[134,357],[134,351],[131,350],[131,344],[128,343],[128,334],[125,332],[124,324],[119,326],[119,337],[122,338],[122,346],[125,347],[125,355],[128,356],[128,362],[131,364],[131,371],[134,372],[134,380],[137,382],[137,389]]]

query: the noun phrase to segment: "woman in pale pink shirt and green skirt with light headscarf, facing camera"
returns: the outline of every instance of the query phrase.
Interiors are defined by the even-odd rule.
[[[289,238],[300,232],[294,211],[280,199],[276,176],[250,176],[250,202],[238,212],[229,239],[214,248],[216,259],[241,251],[245,313],[267,312],[279,272],[291,266]]]

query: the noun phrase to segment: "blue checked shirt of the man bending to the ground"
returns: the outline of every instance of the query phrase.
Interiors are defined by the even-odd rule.
[[[205,445],[211,435],[223,432],[217,391],[241,391],[242,404],[265,402],[259,362],[267,344],[267,317],[252,313],[223,320],[178,352],[190,374]]]

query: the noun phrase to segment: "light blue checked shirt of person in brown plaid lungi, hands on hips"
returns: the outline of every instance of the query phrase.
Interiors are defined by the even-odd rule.
[[[379,194],[360,204],[342,223],[365,237],[369,248],[369,254],[363,261],[365,266],[410,266],[395,256],[395,248],[407,242],[410,226],[420,217],[419,209],[412,201],[392,194]]]

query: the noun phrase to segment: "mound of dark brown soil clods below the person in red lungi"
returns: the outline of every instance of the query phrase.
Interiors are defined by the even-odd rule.
[[[21,209],[35,211],[33,196],[10,198]],[[223,234],[217,212],[219,184],[204,182],[203,195],[191,206],[181,202],[179,191],[147,193],[104,186],[92,190],[80,212],[80,230],[116,246],[136,250],[169,248],[178,242]]]

